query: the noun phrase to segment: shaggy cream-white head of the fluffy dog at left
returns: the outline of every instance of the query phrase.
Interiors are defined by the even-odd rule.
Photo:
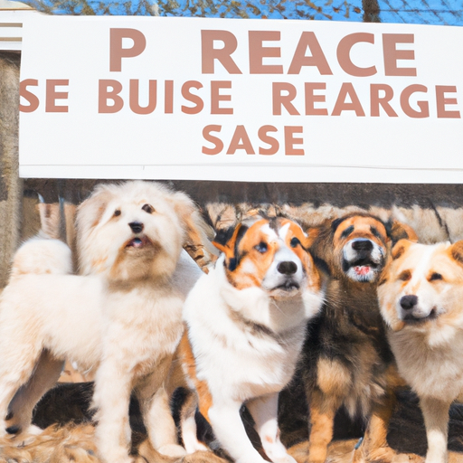
[[[80,272],[115,280],[170,276],[194,213],[186,194],[163,184],[100,184],[77,212]]]

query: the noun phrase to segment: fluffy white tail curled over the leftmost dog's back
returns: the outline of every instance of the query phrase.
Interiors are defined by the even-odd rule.
[[[53,240],[43,235],[25,241],[14,254],[10,279],[31,273],[36,275],[72,273],[70,247],[60,240]]]

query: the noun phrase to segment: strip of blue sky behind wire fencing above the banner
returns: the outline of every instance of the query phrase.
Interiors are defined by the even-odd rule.
[[[383,23],[463,25],[463,0],[378,0]],[[29,0],[54,13],[80,13],[81,0]],[[96,14],[362,21],[362,0],[87,0]]]

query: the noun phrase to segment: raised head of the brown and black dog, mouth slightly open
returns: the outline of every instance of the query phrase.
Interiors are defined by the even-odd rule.
[[[335,278],[374,283],[386,263],[391,244],[398,238],[415,239],[410,227],[384,223],[366,213],[351,213],[324,224],[313,250]]]

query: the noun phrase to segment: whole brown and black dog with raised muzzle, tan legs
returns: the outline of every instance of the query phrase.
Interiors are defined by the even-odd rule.
[[[376,287],[392,243],[416,240],[410,227],[352,213],[314,230],[311,253],[328,273],[326,302],[309,324],[302,370],[310,407],[309,463],[324,463],[341,407],[368,423],[354,461],[390,462],[387,426],[400,381]]]

